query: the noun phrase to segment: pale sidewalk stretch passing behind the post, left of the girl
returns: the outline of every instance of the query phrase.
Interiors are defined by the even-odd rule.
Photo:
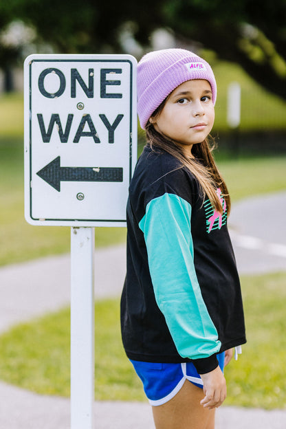
[[[120,296],[125,245],[96,250],[95,296]],[[0,267],[0,333],[70,302],[70,255]]]

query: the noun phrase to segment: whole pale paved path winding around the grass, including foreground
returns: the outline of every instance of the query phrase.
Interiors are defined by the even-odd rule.
[[[230,231],[243,273],[286,268],[286,193],[256,197],[234,205]],[[36,228],[36,227],[35,227]],[[96,298],[118,296],[125,274],[125,248],[96,250]],[[0,269],[0,332],[23,320],[69,303],[69,255]],[[69,399],[36,395],[0,382],[0,428],[68,429]],[[153,429],[146,403],[100,401],[94,405],[96,429]],[[286,410],[221,407],[217,429],[285,429]]]

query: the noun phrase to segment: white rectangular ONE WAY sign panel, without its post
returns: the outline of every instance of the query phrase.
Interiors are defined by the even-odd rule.
[[[130,55],[31,55],[24,64],[25,219],[124,226],[137,161]]]

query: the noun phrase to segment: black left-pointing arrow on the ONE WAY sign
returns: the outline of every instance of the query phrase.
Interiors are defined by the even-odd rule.
[[[61,181],[123,181],[123,168],[61,167],[59,156],[36,174],[58,192],[61,191]]]

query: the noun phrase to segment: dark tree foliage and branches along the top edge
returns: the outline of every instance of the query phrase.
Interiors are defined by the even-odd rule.
[[[10,0],[0,3],[0,23],[3,15],[33,26],[62,53],[122,52],[124,23],[145,48],[154,30],[168,28],[286,99],[286,0]]]

